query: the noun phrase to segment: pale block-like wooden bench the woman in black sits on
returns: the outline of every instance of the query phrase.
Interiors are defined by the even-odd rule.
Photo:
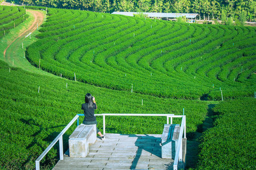
[[[79,125],[69,136],[69,156],[85,158],[89,154],[89,144],[96,142],[96,125]]]

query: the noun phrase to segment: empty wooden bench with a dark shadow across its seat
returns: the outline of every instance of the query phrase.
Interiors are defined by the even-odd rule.
[[[162,158],[174,159],[177,142],[180,134],[180,125],[165,124],[161,138]]]

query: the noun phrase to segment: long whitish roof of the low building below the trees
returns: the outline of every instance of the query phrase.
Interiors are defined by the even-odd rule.
[[[138,12],[113,12],[112,14],[133,16],[133,14],[139,14]],[[160,13],[160,12],[143,12],[148,17],[160,17],[160,18],[178,18],[185,16],[186,18],[195,18],[198,14],[184,14],[184,13]]]

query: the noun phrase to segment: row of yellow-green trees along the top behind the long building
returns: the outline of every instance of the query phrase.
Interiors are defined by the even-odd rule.
[[[89,10],[96,12],[170,12],[197,13],[198,19],[221,19],[246,15],[255,20],[255,0],[21,0],[26,5]]]

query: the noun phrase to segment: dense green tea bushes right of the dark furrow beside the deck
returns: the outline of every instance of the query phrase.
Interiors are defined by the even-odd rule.
[[[255,169],[256,101],[242,97],[218,104],[211,128],[203,134],[196,169]]]

